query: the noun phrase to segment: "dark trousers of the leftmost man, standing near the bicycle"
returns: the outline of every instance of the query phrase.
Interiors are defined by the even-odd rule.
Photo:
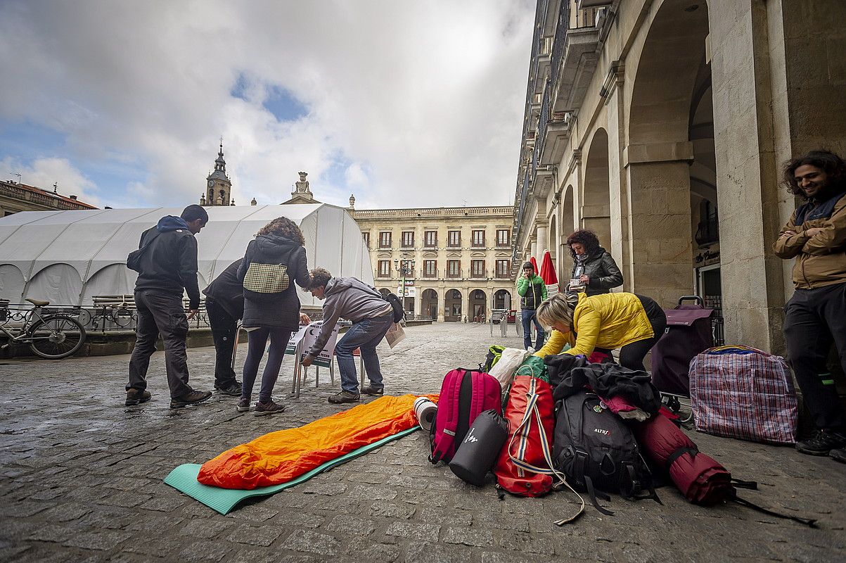
[[[188,317],[182,305],[182,295],[159,290],[135,291],[138,309],[138,328],[135,349],[129,358],[129,384],[126,390],[147,388],[147,368],[150,356],[156,351],[156,339],[162,334],[164,362],[168,372],[168,386],[172,398],[190,393],[188,384]]]

